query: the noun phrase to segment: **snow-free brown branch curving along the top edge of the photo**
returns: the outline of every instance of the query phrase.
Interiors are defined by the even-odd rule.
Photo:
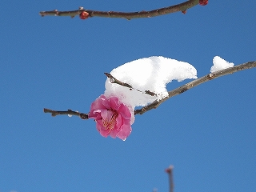
[[[41,11],[39,14],[41,16],[54,15],[54,16],[70,16],[74,18],[76,15],[81,14],[86,11],[90,17],[103,17],[103,18],[126,18],[128,20],[132,18],[152,18],[162,14],[172,14],[174,12],[182,11],[183,13],[186,10],[190,9],[193,6],[198,5],[199,0],[189,0],[187,2],[182,2],[174,6],[163,7],[157,10],[149,11],[138,11],[138,12],[117,12],[117,11],[98,11],[98,10],[85,10],[83,7],[80,7],[79,10],[70,10],[70,11]]]

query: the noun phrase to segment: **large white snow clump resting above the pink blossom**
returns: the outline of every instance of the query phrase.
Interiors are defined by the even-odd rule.
[[[182,82],[187,78],[198,78],[194,66],[187,62],[179,62],[162,56],[140,58],[127,62],[112,70],[110,74],[119,81],[128,83],[134,89],[111,83],[110,78],[107,78],[105,96],[116,96],[121,102],[133,108],[146,106],[156,99],[167,97],[166,84],[172,80]],[[150,90],[156,95],[145,94],[146,90]]]

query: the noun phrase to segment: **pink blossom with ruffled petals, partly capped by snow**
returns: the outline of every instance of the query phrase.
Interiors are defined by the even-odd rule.
[[[117,97],[106,98],[101,95],[90,106],[89,118],[94,118],[96,127],[103,137],[126,140],[131,132],[132,114],[128,106]]]

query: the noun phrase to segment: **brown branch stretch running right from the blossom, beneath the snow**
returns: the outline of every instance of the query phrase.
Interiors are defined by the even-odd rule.
[[[139,110],[134,110],[134,114],[144,114],[148,110],[155,109],[160,104],[162,104],[162,102],[165,102],[168,98],[172,98],[177,94],[182,94],[186,90],[190,90],[191,88],[198,86],[198,85],[202,84],[203,82],[208,82],[214,78],[219,78],[226,74],[234,74],[235,72],[238,72],[240,70],[248,70],[253,67],[256,67],[256,62],[246,62],[246,63],[243,63],[238,66],[233,66],[233,67],[227,68],[225,70],[218,70],[217,72],[207,74],[206,76],[203,76],[202,78],[198,78],[192,82],[188,82],[185,85],[180,86],[175,90],[170,90],[168,92],[168,94],[169,94],[168,97],[163,98],[162,100],[155,100],[154,102],[150,103],[147,106],[142,107]]]

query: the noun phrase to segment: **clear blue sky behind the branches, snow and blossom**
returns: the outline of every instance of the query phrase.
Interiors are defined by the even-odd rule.
[[[182,1],[2,1],[0,10],[0,191],[256,189],[255,69],[206,82],[137,115],[123,142],[93,120],[44,114],[88,112],[104,72],[162,55],[190,62],[198,77],[215,55],[256,60],[254,1],[210,0],[186,14],[121,18],[40,17],[41,10],[137,11]],[[189,82],[189,81],[186,81]],[[174,89],[186,82],[172,82]]]

